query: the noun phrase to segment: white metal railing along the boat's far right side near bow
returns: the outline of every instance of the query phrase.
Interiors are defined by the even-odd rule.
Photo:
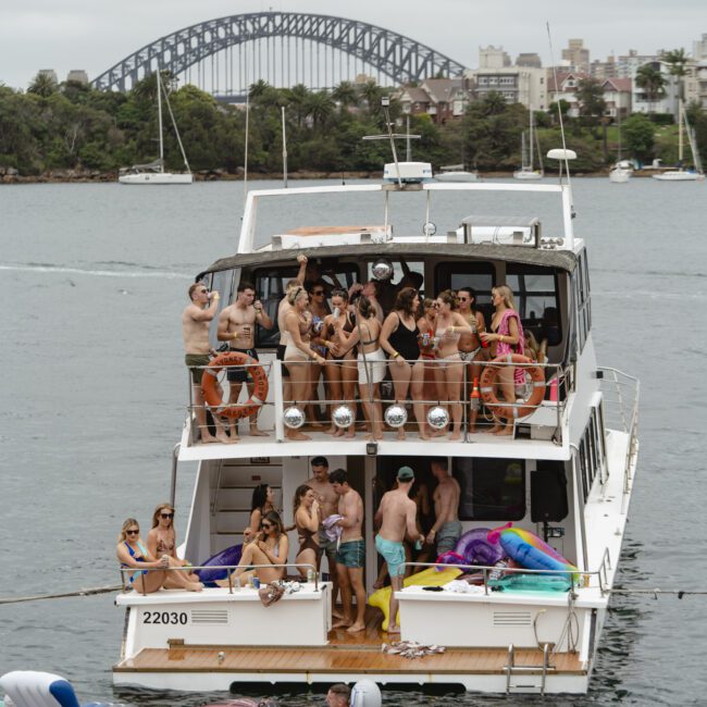
[[[631,489],[631,474],[638,452],[638,399],[641,382],[618,369],[599,368],[601,372],[601,397],[604,425],[629,435],[623,463],[623,494]]]

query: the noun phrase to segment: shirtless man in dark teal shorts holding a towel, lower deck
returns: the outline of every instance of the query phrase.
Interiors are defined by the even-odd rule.
[[[334,629],[346,629],[348,633],[365,630],[365,588],[363,587],[363,565],[365,562],[365,543],[363,542],[363,501],[349,485],[343,469],[335,469],[328,481],[338,496],[338,512],[343,518],[337,524],[343,529],[336,554],[338,586],[342,592],[344,618],[334,623]],[[351,587],[356,594],[356,620]]]

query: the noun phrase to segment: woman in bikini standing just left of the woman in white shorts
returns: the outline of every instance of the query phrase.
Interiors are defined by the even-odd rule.
[[[346,349],[346,338],[356,328],[356,317],[348,308],[348,293],[345,289],[335,289],[332,293],[332,313],[324,319],[321,338],[328,349],[326,352],[326,368],[324,379],[326,380],[326,398],[334,400],[332,410],[344,401],[352,410],[356,410],[356,359],[351,349]],[[331,427],[326,431],[335,437],[340,437],[344,430],[340,430],[332,420]],[[349,429],[347,436],[356,435],[356,423]]]

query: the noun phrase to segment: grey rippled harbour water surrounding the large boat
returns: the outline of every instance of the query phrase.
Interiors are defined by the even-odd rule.
[[[619,584],[704,592],[707,185],[597,178],[574,179],[573,188],[599,362],[642,380]],[[186,404],[186,288],[235,252],[241,210],[235,183],[0,187],[0,597],[119,581],[122,521],[135,516],[147,529],[169,494]],[[181,468],[177,534],[193,477],[194,468]],[[191,707],[226,696],[114,691],[122,628],[111,595],[0,605],[0,674],[58,672],[83,702]],[[705,596],[616,596],[588,695],[547,702],[707,704],[706,636]],[[278,698],[324,702],[301,690]],[[384,691],[384,698],[544,702],[444,691]]]

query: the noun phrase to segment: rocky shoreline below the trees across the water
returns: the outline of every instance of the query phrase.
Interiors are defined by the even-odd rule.
[[[633,173],[634,177],[649,177],[654,174],[659,174],[661,170],[638,170]],[[609,170],[601,172],[574,172],[573,176],[600,178],[607,177]],[[512,172],[497,171],[484,172],[481,178],[501,179],[510,178]],[[548,178],[553,177],[553,173],[546,173]],[[382,172],[314,172],[314,171],[300,171],[292,172],[287,175],[288,179],[381,179]],[[197,182],[241,182],[244,178],[243,170],[236,173],[227,172],[226,170],[208,170],[195,172],[194,178]],[[251,182],[258,181],[282,181],[282,173],[250,173],[248,179]],[[117,172],[101,172],[99,170],[50,170],[42,174],[24,175],[20,174],[14,168],[0,166],[0,184],[99,184],[99,183],[114,183],[117,182]]]

